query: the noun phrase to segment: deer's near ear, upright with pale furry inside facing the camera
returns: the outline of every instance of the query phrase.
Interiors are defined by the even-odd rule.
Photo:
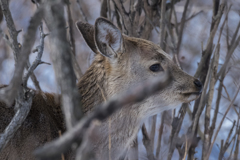
[[[106,57],[117,57],[118,53],[123,52],[121,31],[105,18],[96,20],[94,39],[97,49]]]

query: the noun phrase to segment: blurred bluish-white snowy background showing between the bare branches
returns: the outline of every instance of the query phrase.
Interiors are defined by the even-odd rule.
[[[73,22],[76,22],[78,20],[87,21],[90,24],[94,24],[96,18],[98,18],[103,10],[102,2],[103,0],[70,0],[70,10]],[[147,1],[147,0],[143,0]],[[175,0],[176,1],[176,0]],[[208,39],[210,37],[210,31],[212,26],[212,21],[215,20],[213,17],[213,8],[214,4],[217,2],[220,2],[220,4],[224,3],[223,0],[190,0],[189,4],[187,6],[187,11],[185,13],[185,23],[183,27],[181,27],[182,21],[182,15],[184,13],[184,8],[186,6],[187,0],[180,0],[180,1],[171,1],[167,0],[166,5],[168,7],[166,10],[166,19],[168,19],[168,22],[166,22],[164,32],[162,32],[161,28],[161,0],[148,0],[148,4],[151,6],[152,10],[154,10],[154,14],[152,14],[152,17],[147,17],[148,15],[142,11],[140,18],[138,19],[140,23],[146,23],[145,21],[148,21],[150,23],[150,34],[147,36],[147,38],[151,41],[153,41],[156,44],[160,44],[162,41],[163,45],[165,46],[164,50],[174,56],[175,54],[178,57],[178,61],[180,63],[180,66],[182,69],[189,73],[190,75],[195,75],[195,72],[199,66],[202,53],[206,49],[208,45]],[[119,0],[119,2],[123,3],[126,10],[129,10],[130,8],[130,0]],[[136,3],[136,0],[132,0],[132,2]],[[23,34],[26,32],[27,27],[29,25],[29,20],[31,16],[36,11],[36,5],[32,3],[30,0],[10,0],[9,2],[10,11],[13,16],[14,23],[16,25],[17,29],[22,29],[23,31],[18,36],[18,41],[21,43],[23,41]],[[173,6],[171,4],[173,3]],[[101,9],[102,8],[102,9]],[[111,8],[111,19],[114,21],[114,23],[117,25],[117,16],[119,13],[116,12],[116,6],[114,3],[110,0],[110,8]],[[173,9],[174,8],[174,9]],[[221,6],[218,7],[219,11],[221,9]],[[230,9],[230,10],[229,10]],[[222,10],[223,15],[221,17],[220,23],[217,26],[216,34],[213,38],[213,43],[211,45],[211,56],[210,58],[213,58],[215,50],[217,48],[218,44],[218,38],[221,35],[219,43],[220,49],[219,49],[219,60],[218,60],[218,66],[217,71],[219,72],[223,64],[226,62],[226,57],[230,54],[231,45],[236,42],[236,48],[234,52],[231,55],[230,60],[227,62],[226,70],[224,70],[224,80],[222,85],[222,92],[221,92],[221,100],[220,104],[217,104],[218,99],[218,92],[219,92],[219,86],[221,78],[218,76],[216,84],[214,85],[214,93],[213,98],[210,104],[210,125],[212,125],[212,119],[214,117],[214,113],[216,110],[216,106],[219,105],[219,109],[217,111],[217,121],[216,121],[216,128],[213,133],[213,137],[216,133],[217,127],[219,126],[224,114],[226,113],[226,110],[231,103],[231,100],[234,98],[235,94],[237,94],[237,97],[235,101],[233,102],[233,105],[231,106],[229,112],[227,113],[226,117],[224,118],[223,124],[221,126],[221,129],[219,132],[216,133],[216,141],[214,142],[212,146],[212,151],[209,159],[217,159],[219,158],[219,155],[223,153],[222,159],[240,159],[240,156],[238,156],[238,150],[239,150],[239,113],[240,113],[240,95],[237,92],[239,87],[239,80],[240,80],[240,45],[239,45],[239,35],[240,31],[236,33],[236,31],[239,30],[239,22],[240,22],[240,1],[239,0],[228,0],[226,1],[226,5]],[[169,14],[171,13],[171,14]],[[175,13],[175,14],[174,14]],[[106,12],[107,17],[109,18],[109,12]],[[120,12],[121,15],[121,12]],[[169,18],[169,15],[171,15],[171,18]],[[225,18],[227,16],[227,18]],[[68,13],[65,10],[65,18],[68,19]],[[121,18],[121,17],[120,17]],[[170,20],[169,20],[170,19]],[[120,22],[123,20],[120,20]],[[225,24],[224,24],[225,23]],[[224,24],[224,26],[223,26]],[[68,25],[67,25],[68,26]],[[223,29],[221,31],[221,28],[223,26]],[[177,29],[176,29],[177,28]],[[181,34],[181,28],[183,28],[183,32]],[[0,29],[2,33],[8,34],[8,29],[6,26],[6,22],[3,18],[0,24]],[[68,28],[69,29],[69,28]],[[92,62],[94,53],[89,49],[89,47],[84,42],[82,36],[78,33],[75,25],[73,25],[73,38],[75,40],[75,55],[76,60],[84,73],[89,65]],[[47,27],[45,26],[45,23],[43,23],[43,30],[45,32],[48,31]],[[144,28],[143,28],[144,30]],[[178,30],[178,31],[177,31]],[[178,32],[178,33],[177,33]],[[180,33],[179,33],[180,32]],[[161,40],[161,33],[165,34],[164,40]],[[172,35],[170,35],[172,33]],[[35,42],[35,46],[39,44],[39,32],[37,32],[37,39]],[[178,43],[181,37],[181,43]],[[234,39],[235,37],[235,39]],[[174,39],[174,40],[173,40]],[[234,39],[234,41],[232,41]],[[173,43],[175,41],[175,44]],[[179,47],[178,47],[179,44]],[[51,43],[49,43],[48,38],[45,39],[45,49],[44,54],[42,57],[42,60],[45,62],[51,62],[51,58],[49,56],[49,52],[51,52]],[[217,55],[217,53],[216,53]],[[30,62],[32,62],[35,59],[36,54],[31,53],[30,55]],[[211,63],[212,61],[210,61]],[[206,62],[207,63],[207,62]],[[208,66],[208,65],[207,65]],[[212,67],[213,69],[213,67]],[[210,71],[209,75],[213,72]],[[12,49],[8,46],[6,41],[4,41],[3,36],[0,37],[0,84],[9,84],[12,76],[14,73],[14,57],[12,54]],[[60,92],[58,90],[58,87],[56,85],[56,79],[54,74],[53,65],[40,65],[37,67],[37,69],[34,71],[38,81],[40,82],[40,86],[43,91],[46,92]],[[207,73],[207,72],[206,72]],[[211,75],[209,79],[206,80],[207,84],[210,84],[211,79],[213,76]],[[197,77],[199,78],[199,77]],[[201,79],[201,78],[200,78]],[[31,88],[35,88],[33,82],[31,80],[28,81],[28,86]],[[211,88],[212,86],[208,86]],[[208,91],[208,89],[207,89]],[[207,95],[207,94],[206,94]],[[209,96],[209,95],[207,95]],[[208,99],[208,98],[207,98]],[[198,102],[199,103],[199,102]],[[205,105],[206,103],[206,105]],[[200,116],[200,119],[198,120],[198,129],[197,132],[194,133],[193,138],[190,138],[189,141],[196,141],[195,146],[191,146],[193,152],[196,152],[193,154],[193,157],[197,159],[202,159],[202,150],[203,150],[203,139],[204,139],[204,130],[205,130],[205,107],[207,106],[207,102],[204,103],[204,109],[202,111],[202,114]],[[172,136],[172,121],[174,119],[173,116],[177,116],[179,113],[179,110],[181,106],[179,106],[175,111],[167,111],[164,113],[164,117],[162,118],[163,114],[158,114],[157,117],[150,118],[148,122],[146,122],[146,128],[149,133],[150,140],[154,142],[153,149],[154,149],[154,156],[156,159],[167,159],[169,158],[169,148],[170,145],[173,144],[172,141],[177,141],[181,144],[178,144],[174,146],[174,152],[172,155],[172,159],[178,159],[179,157],[182,157],[182,150],[184,151],[184,147],[186,144],[186,138],[189,136],[188,129],[193,123],[194,116],[196,116],[194,113],[194,105],[195,102],[191,102],[189,104],[189,107],[185,107],[185,113],[183,115],[184,119],[182,122],[182,126],[179,130],[179,133],[177,136]],[[199,105],[199,104],[198,104]],[[181,117],[181,115],[179,115]],[[177,119],[175,119],[177,120]],[[178,121],[180,121],[178,119]],[[236,123],[234,122],[236,121]],[[162,124],[161,122],[164,122]],[[180,125],[180,124],[178,124]],[[234,125],[234,126],[233,126]],[[228,143],[226,142],[227,137],[229,136],[229,132],[231,128],[233,128],[232,134],[230,135],[229,142],[230,145],[228,146]],[[159,132],[162,134],[159,134]],[[159,136],[160,135],[160,136]],[[170,136],[171,135],[171,136]],[[197,136],[197,138],[196,138]],[[161,147],[159,149],[159,137],[161,137]],[[146,154],[145,146],[142,143],[142,132],[139,132],[138,136],[138,158],[139,159],[148,159],[149,157]],[[170,139],[172,138],[172,139]],[[184,140],[183,140],[184,139]],[[213,140],[213,139],[212,139]],[[223,140],[223,142],[221,142]],[[222,143],[222,144],[221,144]],[[222,148],[223,145],[226,145],[226,150],[223,152]],[[159,152],[160,153],[157,153]],[[185,153],[185,152],[183,152]],[[190,159],[190,155],[192,153],[188,153],[186,159]],[[179,156],[180,155],[180,156]]]

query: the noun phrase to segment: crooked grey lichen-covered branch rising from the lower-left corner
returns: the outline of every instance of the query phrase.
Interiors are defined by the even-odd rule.
[[[37,12],[33,17],[36,18],[35,16],[38,14],[39,12]],[[15,98],[15,106],[14,106],[14,109],[17,112],[15,113],[14,117],[12,118],[11,122],[9,123],[7,128],[4,130],[4,132],[0,134],[0,152],[6,146],[6,144],[11,140],[11,138],[13,138],[16,131],[21,127],[22,123],[25,121],[31,109],[32,100],[35,95],[35,92],[27,88],[27,81],[29,77],[33,74],[34,69],[36,69],[36,67],[39,64],[43,63],[41,61],[41,57],[44,49],[44,37],[46,35],[42,31],[42,25],[40,26],[40,34],[41,34],[41,40],[40,40],[40,45],[37,47],[38,54],[36,56],[36,59],[33,62],[33,64],[29,66],[29,69],[27,70],[26,74],[23,76],[22,81],[20,81],[22,82],[22,85],[17,90],[17,97]],[[17,59],[17,61],[20,59],[21,59],[21,56],[19,56],[19,59]]]

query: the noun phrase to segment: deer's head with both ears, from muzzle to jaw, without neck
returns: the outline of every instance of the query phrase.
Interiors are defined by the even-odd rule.
[[[78,22],[77,27],[96,57],[104,57],[108,98],[144,80],[161,76],[165,71],[173,76],[172,83],[138,105],[142,116],[148,117],[171,109],[170,106],[190,102],[201,93],[201,82],[181,70],[158,45],[128,37],[104,18],[98,18],[94,27],[82,22]]]

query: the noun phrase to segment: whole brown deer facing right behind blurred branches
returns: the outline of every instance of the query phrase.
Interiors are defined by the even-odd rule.
[[[76,26],[95,53],[92,64],[77,84],[85,115],[92,112],[98,104],[143,81],[161,76],[167,71],[172,76],[171,83],[165,89],[142,102],[124,106],[94,128],[93,133],[99,133],[97,139],[91,141],[96,159],[119,159],[147,118],[200,96],[202,83],[179,68],[172,57],[153,42],[129,37],[102,17],[95,21],[94,26],[84,22],[77,22]],[[65,131],[61,104],[55,100],[56,95],[42,94],[34,96],[24,124],[0,153],[3,159],[34,159],[32,152],[36,147],[58,137],[59,130]],[[0,132],[3,132],[14,115],[14,111],[4,105],[0,102]]]

